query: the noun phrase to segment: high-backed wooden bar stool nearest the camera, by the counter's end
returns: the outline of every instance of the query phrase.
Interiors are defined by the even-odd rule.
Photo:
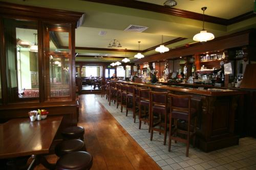
[[[193,137],[193,147],[195,147],[196,130],[197,130],[197,110],[191,108],[191,96],[190,95],[174,95],[169,94],[170,98],[170,114],[169,114],[169,145],[168,151],[170,151],[172,139],[186,143],[186,156],[188,157],[189,140]],[[172,129],[172,119],[174,119],[175,128]],[[178,129],[177,119],[185,120],[187,122],[187,131]],[[190,132],[190,122],[194,119],[194,130]],[[173,130],[173,131],[172,131]],[[186,139],[183,139],[177,134],[185,134]]]

